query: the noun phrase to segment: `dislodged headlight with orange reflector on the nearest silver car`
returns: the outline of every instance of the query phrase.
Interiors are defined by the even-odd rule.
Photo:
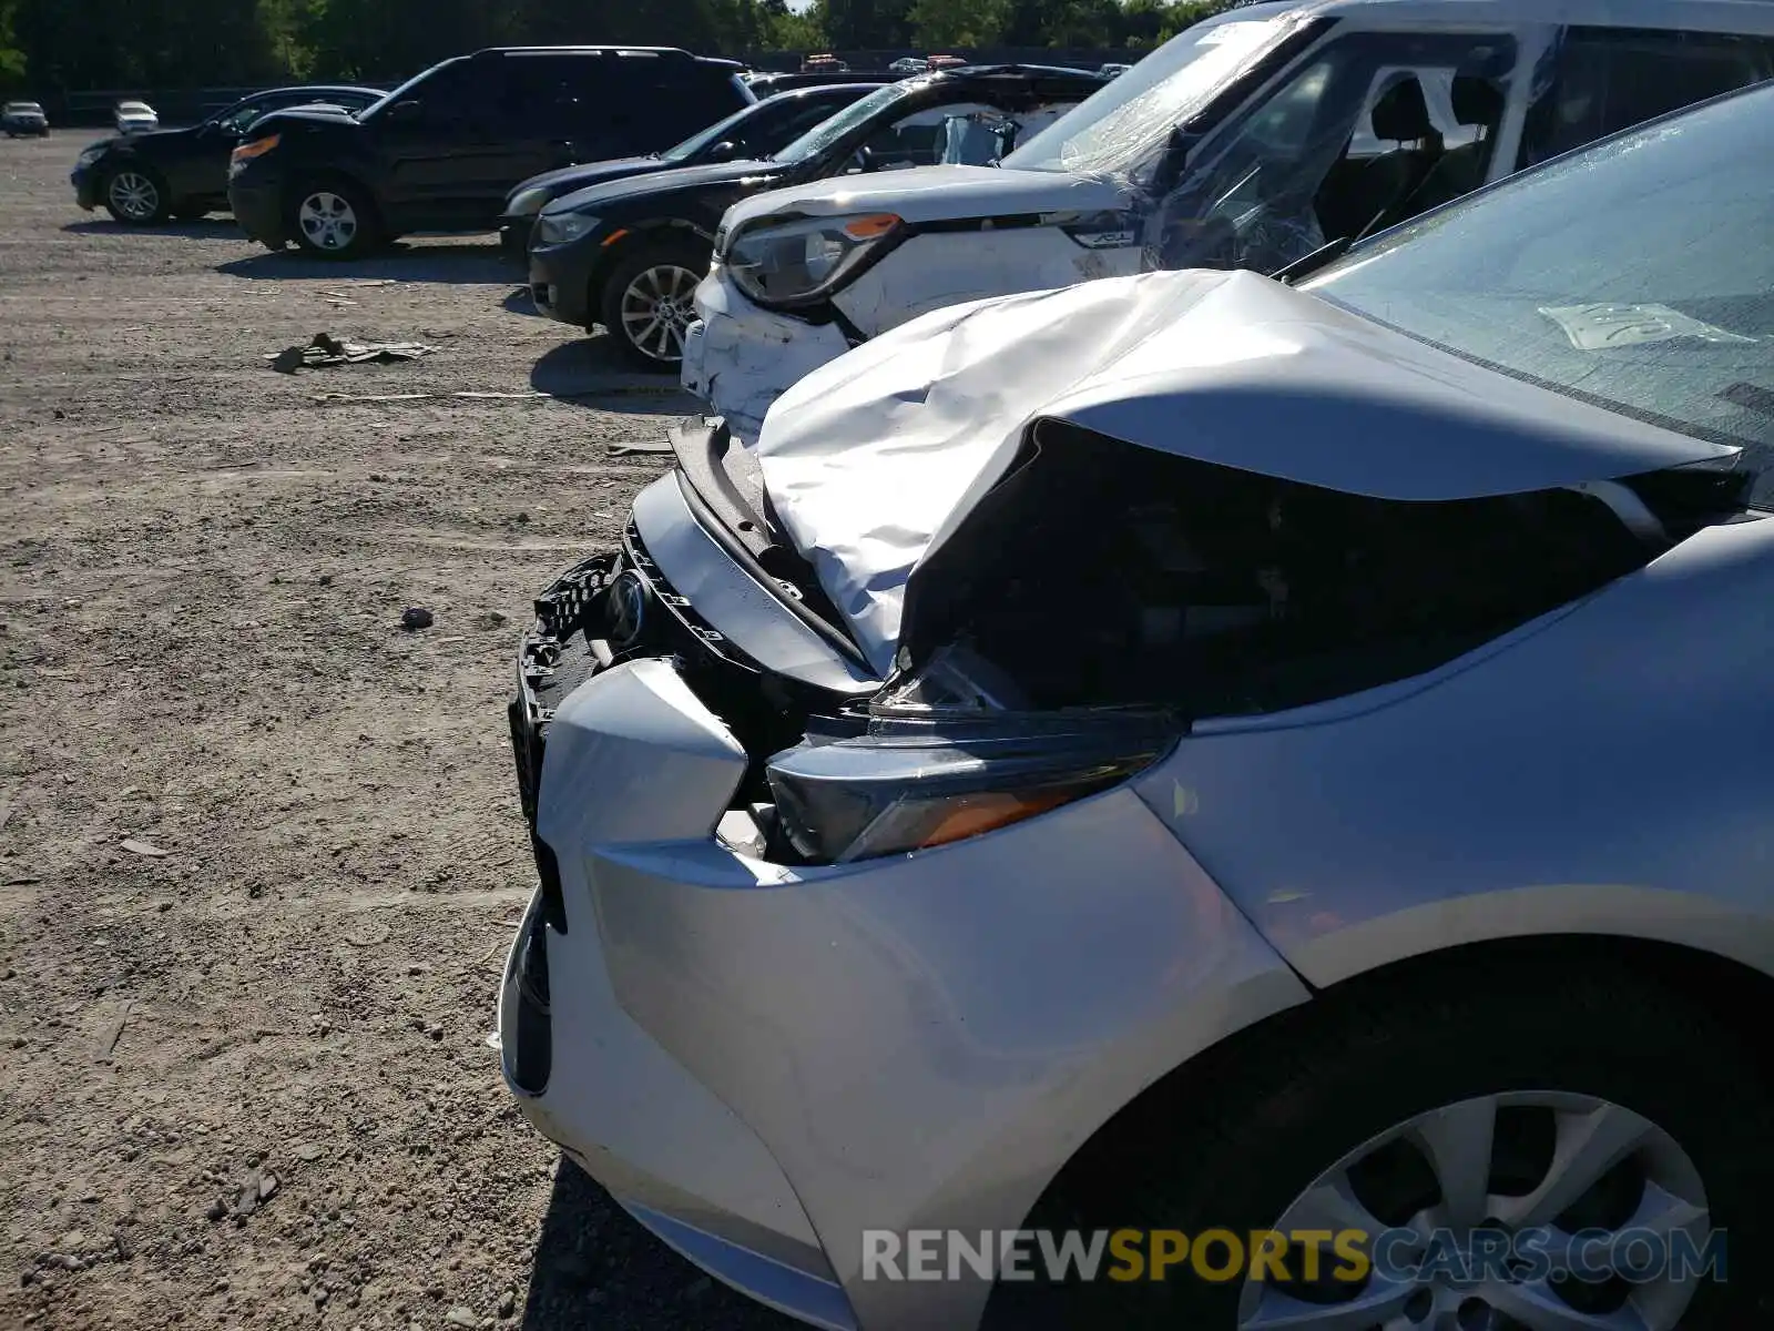
[[[770,760],[777,829],[814,864],[963,841],[1126,781],[1169,752],[1174,726],[1150,713],[1001,713],[876,726]]]

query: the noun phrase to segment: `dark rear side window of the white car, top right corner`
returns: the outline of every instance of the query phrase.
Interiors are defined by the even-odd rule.
[[[1731,32],[1565,28],[1535,71],[1519,165],[1774,76],[1774,39]]]

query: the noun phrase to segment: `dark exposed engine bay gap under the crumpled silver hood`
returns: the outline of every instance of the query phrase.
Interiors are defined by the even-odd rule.
[[[1449,662],[1641,568],[1733,497],[1717,476],[1660,472],[1401,502],[1045,421],[914,575],[903,646],[915,662],[969,650],[1008,676],[1011,706],[1277,712]]]

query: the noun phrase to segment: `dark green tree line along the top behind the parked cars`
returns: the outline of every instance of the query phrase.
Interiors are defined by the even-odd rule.
[[[1155,46],[1233,0],[0,0],[0,89],[389,80],[481,46]]]

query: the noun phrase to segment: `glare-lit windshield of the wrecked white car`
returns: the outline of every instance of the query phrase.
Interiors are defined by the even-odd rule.
[[[1197,23],[1004,158],[1015,170],[1128,172],[1242,69],[1299,27],[1291,14]]]

